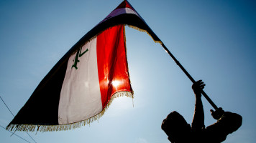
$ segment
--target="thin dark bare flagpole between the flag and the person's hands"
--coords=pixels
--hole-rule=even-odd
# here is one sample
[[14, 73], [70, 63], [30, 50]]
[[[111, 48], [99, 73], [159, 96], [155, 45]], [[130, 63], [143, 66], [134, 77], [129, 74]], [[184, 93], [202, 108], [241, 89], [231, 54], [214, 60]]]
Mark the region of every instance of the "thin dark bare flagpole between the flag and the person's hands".
[[[170, 55], [170, 57], [173, 58], [173, 60], [175, 61], [176, 64], [178, 64], [178, 66], [180, 66], [180, 69], [187, 75], [188, 79], [191, 79], [191, 82], [195, 83], [196, 81], [193, 79], [193, 77], [191, 77], [190, 74], [188, 74], [188, 71], [186, 71], [186, 69], [180, 64], [180, 62], [175, 58], [175, 56], [173, 56], [173, 54], [170, 53], [170, 51], [168, 50], [168, 48], [165, 46], [165, 44], [161, 44], [163, 46], [163, 49], [165, 49], [165, 51]], [[206, 94], [206, 92], [204, 92], [204, 90], [202, 90], [201, 92], [204, 97], [206, 98], [206, 100], [211, 104], [212, 107], [214, 107], [214, 109], [218, 109], [218, 107], [216, 106], [216, 104], [214, 104], [214, 102], [212, 102], [212, 100], [208, 97], [208, 95]]]

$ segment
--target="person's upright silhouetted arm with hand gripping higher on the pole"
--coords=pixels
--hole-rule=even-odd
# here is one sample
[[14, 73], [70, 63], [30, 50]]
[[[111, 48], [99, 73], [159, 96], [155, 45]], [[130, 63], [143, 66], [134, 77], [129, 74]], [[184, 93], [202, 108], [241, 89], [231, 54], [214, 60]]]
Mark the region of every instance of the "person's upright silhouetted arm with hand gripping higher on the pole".
[[192, 131], [198, 132], [204, 127], [204, 108], [201, 100], [201, 91], [204, 89], [204, 82], [202, 80], [197, 81], [192, 85], [193, 92], [196, 97], [195, 113], [192, 121]]

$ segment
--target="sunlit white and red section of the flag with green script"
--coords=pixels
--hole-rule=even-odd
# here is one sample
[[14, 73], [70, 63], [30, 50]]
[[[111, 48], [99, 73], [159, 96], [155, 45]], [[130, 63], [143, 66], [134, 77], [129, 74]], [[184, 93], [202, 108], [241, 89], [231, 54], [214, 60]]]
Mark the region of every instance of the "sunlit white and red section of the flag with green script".
[[106, 29], [68, 59], [60, 91], [58, 124], [99, 114], [112, 96], [132, 96], [124, 46], [124, 26]]

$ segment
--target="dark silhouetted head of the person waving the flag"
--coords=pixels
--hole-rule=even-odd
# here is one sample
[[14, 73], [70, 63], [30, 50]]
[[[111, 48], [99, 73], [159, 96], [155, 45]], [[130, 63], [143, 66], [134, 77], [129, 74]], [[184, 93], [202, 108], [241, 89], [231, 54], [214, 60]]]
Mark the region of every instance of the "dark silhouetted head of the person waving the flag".
[[191, 126], [178, 112], [168, 114], [161, 128], [168, 135], [170, 142], [186, 142], [186, 139], [190, 138]]

